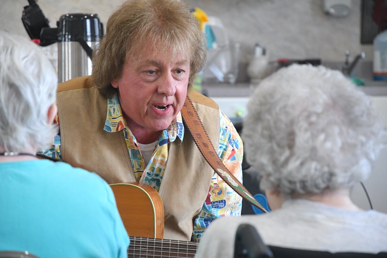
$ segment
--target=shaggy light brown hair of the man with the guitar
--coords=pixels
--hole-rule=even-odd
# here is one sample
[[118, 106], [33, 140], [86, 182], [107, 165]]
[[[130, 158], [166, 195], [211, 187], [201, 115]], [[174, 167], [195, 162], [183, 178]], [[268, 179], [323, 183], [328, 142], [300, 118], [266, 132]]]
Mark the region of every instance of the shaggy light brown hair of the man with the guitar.
[[128, 57], [147, 55], [145, 46], [190, 60], [188, 90], [207, 57], [204, 35], [188, 6], [178, 0], [127, 0], [110, 15], [106, 34], [93, 53], [92, 80], [104, 97], [116, 89]]

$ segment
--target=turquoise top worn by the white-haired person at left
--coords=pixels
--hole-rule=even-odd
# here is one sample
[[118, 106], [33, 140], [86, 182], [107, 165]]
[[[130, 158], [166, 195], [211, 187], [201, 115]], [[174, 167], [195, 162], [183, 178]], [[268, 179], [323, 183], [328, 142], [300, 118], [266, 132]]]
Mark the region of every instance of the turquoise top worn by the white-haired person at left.
[[97, 174], [48, 160], [0, 163], [0, 250], [124, 258], [128, 244], [113, 191]]

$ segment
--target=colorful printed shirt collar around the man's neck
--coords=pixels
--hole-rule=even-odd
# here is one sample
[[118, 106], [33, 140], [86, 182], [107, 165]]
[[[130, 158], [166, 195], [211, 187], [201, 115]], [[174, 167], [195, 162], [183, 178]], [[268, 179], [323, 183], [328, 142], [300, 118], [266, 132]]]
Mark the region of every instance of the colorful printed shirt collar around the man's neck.
[[[118, 99], [118, 94], [116, 93], [112, 97], [108, 98], [108, 111], [103, 130], [111, 133], [121, 131], [124, 128], [126, 128], [132, 138], [134, 138], [134, 135], [132, 132], [130, 132], [129, 127], [126, 124], [125, 116], [123, 115], [121, 109], [120, 100]], [[159, 138], [159, 145], [161, 144], [161, 139], [169, 139], [168, 142], [173, 142], [176, 140], [176, 138], [178, 138], [182, 142], [183, 137], [183, 118], [182, 114], [179, 112], [176, 118], [171, 122], [171, 125], [161, 133], [161, 137]]]

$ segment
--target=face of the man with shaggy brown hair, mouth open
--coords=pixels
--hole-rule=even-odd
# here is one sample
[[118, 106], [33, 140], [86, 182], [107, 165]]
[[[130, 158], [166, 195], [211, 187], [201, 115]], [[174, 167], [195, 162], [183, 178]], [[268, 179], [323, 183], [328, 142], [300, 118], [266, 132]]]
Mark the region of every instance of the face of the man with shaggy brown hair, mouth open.
[[122, 76], [111, 82], [130, 130], [142, 134], [168, 128], [187, 96], [190, 60], [165, 51], [126, 60]]

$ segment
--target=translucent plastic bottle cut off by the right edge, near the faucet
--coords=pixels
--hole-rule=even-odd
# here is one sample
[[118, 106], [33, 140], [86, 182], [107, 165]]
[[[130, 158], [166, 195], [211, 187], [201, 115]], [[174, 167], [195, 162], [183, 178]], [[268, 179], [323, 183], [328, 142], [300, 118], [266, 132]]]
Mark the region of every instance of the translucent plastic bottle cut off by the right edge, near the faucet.
[[373, 79], [387, 80], [387, 30], [373, 39]]

